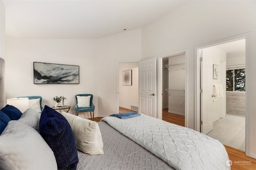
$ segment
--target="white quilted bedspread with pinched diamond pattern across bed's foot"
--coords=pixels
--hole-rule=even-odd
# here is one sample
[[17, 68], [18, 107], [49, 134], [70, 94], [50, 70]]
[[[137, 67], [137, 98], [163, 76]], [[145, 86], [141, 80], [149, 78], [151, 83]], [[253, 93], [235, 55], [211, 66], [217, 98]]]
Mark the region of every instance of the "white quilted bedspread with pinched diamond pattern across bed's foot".
[[222, 143], [193, 129], [146, 115], [130, 119], [104, 117], [102, 121], [176, 170], [230, 170]]

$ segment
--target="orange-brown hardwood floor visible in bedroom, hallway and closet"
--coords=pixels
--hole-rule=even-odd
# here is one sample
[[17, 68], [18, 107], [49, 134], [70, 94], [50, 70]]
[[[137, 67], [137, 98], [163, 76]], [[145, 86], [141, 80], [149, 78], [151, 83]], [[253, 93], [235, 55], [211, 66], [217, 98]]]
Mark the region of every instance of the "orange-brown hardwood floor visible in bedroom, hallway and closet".
[[[120, 107], [119, 113], [124, 113], [126, 111], [133, 111], [130, 109], [125, 109], [123, 107]], [[166, 109], [163, 109], [162, 111], [162, 119], [164, 121], [168, 121], [170, 123], [174, 123], [177, 125], [184, 126], [185, 125], [185, 117], [177, 114], [173, 114], [170, 116], [168, 113], [166, 113]], [[94, 117], [94, 121], [100, 121], [102, 117]], [[232, 161], [231, 170], [256, 170], [256, 159], [251, 158], [249, 156], [245, 155], [245, 152], [242, 150], [238, 150], [229, 146], [224, 145], [228, 152], [229, 159]]]

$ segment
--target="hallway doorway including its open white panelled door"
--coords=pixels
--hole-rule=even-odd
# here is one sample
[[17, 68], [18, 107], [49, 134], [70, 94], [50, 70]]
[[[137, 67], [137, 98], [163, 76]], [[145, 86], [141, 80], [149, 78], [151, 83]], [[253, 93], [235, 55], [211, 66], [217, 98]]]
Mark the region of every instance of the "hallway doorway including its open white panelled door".
[[[125, 69], [121, 66], [122, 64], [136, 63], [135, 67]], [[122, 67], [122, 68], [121, 68]], [[127, 70], [130, 69], [130, 70]], [[132, 72], [132, 70], [138, 70], [137, 72]], [[130, 71], [130, 84], [129, 87], [123, 84], [123, 72]], [[156, 58], [148, 59], [144, 61], [128, 61], [128, 62], [118, 62], [117, 63], [117, 113], [119, 112], [119, 101], [120, 94], [125, 92], [127, 96], [131, 96], [130, 102], [124, 108], [130, 108], [134, 111], [139, 111], [142, 114], [149, 115], [152, 117], [157, 117], [157, 104], [156, 104]], [[140, 80], [140, 81], [139, 81]], [[134, 83], [132, 83], [134, 82]], [[125, 90], [122, 90], [125, 88]], [[123, 101], [127, 101], [127, 96], [123, 95], [125, 99]], [[122, 99], [121, 99], [122, 101]], [[132, 104], [131, 104], [132, 103]], [[131, 105], [130, 105], [131, 104]], [[134, 104], [134, 105], [133, 105]], [[137, 105], [137, 106], [136, 106]], [[136, 109], [134, 109], [134, 107]]]

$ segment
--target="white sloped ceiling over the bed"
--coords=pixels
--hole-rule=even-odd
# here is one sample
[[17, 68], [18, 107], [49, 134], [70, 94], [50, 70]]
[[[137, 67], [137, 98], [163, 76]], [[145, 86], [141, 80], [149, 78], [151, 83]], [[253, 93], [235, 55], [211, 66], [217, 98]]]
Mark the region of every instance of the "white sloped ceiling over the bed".
[[[142, 28], [183, 0], [2, 0], [6, 35], [94, 39]], [[124, 30], [126, 29], [126, 30]]]

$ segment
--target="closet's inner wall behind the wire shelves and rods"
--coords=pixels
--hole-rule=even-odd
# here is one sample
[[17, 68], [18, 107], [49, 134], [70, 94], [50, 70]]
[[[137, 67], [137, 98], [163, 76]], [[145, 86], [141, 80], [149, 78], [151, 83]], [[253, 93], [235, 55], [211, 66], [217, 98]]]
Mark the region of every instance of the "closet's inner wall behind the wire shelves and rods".
[[[174, 57], [169, 57], [169, 64], [185, 63], [185, 54]], [[185, 90], [186, 70], [185, 65], [169, 66], [168, 71], [168, 112], [185, 115], [185, 92], [174, 90]]]

